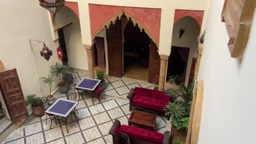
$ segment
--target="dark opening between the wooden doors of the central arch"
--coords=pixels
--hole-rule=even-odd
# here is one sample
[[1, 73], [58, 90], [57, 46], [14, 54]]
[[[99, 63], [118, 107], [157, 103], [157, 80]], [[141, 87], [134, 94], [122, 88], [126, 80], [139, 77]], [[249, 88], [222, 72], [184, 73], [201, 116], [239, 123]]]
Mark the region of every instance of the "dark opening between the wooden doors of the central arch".
[[[127, 19], [123, 16], [123, 19]], [[129, 21], [124, 28], [124, 77], [148, 81], [150, 38]]]

